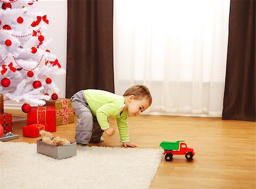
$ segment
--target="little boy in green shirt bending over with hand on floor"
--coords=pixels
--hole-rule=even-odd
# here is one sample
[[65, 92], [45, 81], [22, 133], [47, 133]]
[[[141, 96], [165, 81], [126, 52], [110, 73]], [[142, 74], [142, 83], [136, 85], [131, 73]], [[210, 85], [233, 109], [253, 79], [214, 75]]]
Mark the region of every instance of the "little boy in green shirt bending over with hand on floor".
[[102, 134], [113, 136], [115, 129], [109, 125], [109, 117], [117, 118], [117, 126], [123, 146], [137, 147], [129, 140], [127, 117], [137, 116], [152, 103], [150, 91], [146, 86], [135, 85], [119, 96], [108, 91], [87, 89], [71, 97], [77, 115], [76, 136], [78, 144], [102, 142]]

